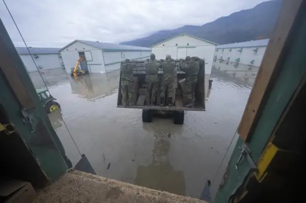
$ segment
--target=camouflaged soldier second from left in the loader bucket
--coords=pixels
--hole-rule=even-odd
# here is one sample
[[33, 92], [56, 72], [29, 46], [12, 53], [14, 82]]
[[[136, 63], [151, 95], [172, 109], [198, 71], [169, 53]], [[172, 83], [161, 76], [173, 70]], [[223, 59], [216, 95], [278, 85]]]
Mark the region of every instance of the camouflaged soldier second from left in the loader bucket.
[[155, 55], [151, 54], [150, 61], [145, 62], [146, 67], [146, 78], [145, 82], [147, 83], [147, 95], [146, 95], [146, 105], [154, 105], [156, 93], [159, 86], [158, 79], [158, 69], [159, 62], [155, 60]]

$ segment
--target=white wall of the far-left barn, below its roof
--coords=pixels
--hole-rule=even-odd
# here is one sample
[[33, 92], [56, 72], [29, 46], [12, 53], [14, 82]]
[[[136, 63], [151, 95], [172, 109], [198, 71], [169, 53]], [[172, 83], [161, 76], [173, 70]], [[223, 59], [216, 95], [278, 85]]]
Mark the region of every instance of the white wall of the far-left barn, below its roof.
[[[33, 59], [40, 70], [62, 68], [63, 60], [60, 54], [35, 54], [38, 58], [33, 56]], [[26, 66], [28, 72], [37, 71], [35, 63], [33, 62], [31, 55], [20, 55], [20, 58]]]

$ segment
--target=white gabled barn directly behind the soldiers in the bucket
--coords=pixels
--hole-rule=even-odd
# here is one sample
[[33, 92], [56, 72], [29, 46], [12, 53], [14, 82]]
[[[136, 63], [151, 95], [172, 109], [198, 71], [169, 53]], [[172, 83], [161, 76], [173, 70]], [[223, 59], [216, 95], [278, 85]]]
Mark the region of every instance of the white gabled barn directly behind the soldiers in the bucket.
[[205, 59], [205, 74], [212, 71], [214, 50], [217, 44], [190, 34], [181, 33], [152, 46], [156, 59], [165, 59], [170, 54], [173, 59], [197, 56]]

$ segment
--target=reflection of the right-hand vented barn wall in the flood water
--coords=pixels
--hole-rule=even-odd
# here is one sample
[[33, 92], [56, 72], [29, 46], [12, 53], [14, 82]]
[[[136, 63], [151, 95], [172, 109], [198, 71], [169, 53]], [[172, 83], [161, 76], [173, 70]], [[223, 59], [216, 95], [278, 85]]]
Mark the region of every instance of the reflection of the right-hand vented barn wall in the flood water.
[[213, 70], [217, 70], [230, 78], [239, 79], [240, 81], [245, 82], [245, 84], [253, 85], [259, 67], [227, 62], [224, 60], [216, 60], [213, 63]]

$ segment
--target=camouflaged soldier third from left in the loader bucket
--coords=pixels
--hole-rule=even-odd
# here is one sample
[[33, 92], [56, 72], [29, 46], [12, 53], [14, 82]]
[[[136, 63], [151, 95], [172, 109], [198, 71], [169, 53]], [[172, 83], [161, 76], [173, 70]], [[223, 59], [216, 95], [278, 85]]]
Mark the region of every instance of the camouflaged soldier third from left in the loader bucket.
[[[175, 62], [171, 59], [171, 55], [166, 55], [166, 60], [161, 63], [163, 69], [163, 77], [161, 83], [161, 106], [165, 104], [166, 94], [168, 95], [167, 103], [172, 106], [173, 96], [173, 71], [175, 69]], [[175, 93], [174, 93], [175, 94]]]

